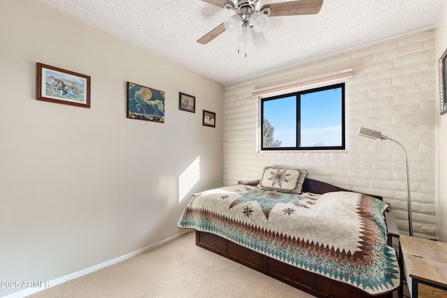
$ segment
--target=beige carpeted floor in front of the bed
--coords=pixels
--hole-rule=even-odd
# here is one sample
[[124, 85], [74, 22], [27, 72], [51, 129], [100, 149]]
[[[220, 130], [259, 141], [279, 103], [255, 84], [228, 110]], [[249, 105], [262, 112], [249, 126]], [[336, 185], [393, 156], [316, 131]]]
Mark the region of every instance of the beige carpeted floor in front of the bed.
[[191, 232], [147, 253], [28, 297], [313, 296], [196, 246], [195, 233]]

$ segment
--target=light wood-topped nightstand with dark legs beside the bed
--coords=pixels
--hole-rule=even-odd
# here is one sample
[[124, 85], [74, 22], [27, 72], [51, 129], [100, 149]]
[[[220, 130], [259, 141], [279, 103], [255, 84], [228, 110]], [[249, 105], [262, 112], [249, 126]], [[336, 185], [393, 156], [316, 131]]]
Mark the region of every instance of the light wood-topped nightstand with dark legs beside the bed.
[[400, 235], [400, 258], [411, 298], [447, 297], [447, 243]]

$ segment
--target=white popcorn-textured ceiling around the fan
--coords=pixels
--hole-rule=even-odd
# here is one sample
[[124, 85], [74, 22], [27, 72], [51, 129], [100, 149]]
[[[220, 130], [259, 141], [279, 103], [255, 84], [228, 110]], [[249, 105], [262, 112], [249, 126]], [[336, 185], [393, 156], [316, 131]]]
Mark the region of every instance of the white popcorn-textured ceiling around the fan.
[[226, 31], [207, 45], [196, 42], [234, 14], [200, 0], [38, 1], [222, 84], [434, 27], [447, 3], [324, 0], [316, 15], [269, 17], [268, 49], [242, 44], [237, 53], [237, 33]]

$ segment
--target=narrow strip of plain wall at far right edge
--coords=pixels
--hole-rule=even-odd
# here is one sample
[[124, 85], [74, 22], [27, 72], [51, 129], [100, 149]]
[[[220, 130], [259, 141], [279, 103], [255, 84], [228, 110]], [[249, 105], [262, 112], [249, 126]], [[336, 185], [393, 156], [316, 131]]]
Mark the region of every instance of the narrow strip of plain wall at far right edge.
[[[447, 7], [444, 8], [437, 24], [436, 61], [447, 49]], [[439, 88], [438, 71], [435, 79]], [[439, 114], [439, 98], [436, 100], [437, 120], [437, 234], [441, 241], [447, 242], [447, 114]]]

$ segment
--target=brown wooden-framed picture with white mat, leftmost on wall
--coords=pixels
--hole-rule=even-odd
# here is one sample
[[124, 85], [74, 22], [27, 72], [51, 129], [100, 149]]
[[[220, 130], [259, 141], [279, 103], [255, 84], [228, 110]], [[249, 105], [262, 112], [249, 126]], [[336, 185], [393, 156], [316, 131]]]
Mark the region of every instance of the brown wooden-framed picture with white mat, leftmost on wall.
[[90, 107], [89, 75], [37, 63], [36, 99]]

